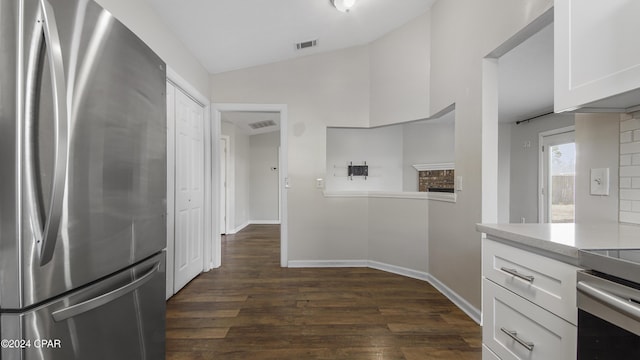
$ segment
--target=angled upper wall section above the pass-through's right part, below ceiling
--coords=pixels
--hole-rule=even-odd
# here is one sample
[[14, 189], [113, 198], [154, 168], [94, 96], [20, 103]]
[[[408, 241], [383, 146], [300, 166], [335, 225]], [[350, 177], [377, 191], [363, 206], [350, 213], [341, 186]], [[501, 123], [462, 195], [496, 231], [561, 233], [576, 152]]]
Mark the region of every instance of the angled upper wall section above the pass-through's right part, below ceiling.
[[429, 116], [430, 13], [369, 46], [371, 126]]

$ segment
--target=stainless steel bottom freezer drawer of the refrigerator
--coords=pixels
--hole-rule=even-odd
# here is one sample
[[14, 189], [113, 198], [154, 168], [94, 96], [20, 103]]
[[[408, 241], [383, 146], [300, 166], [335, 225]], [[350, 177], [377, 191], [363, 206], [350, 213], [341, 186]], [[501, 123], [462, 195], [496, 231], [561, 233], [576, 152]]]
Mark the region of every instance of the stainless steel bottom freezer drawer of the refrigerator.
[[2, 313], [2, 360], [165, 358], [165, 258], [24, 313]]

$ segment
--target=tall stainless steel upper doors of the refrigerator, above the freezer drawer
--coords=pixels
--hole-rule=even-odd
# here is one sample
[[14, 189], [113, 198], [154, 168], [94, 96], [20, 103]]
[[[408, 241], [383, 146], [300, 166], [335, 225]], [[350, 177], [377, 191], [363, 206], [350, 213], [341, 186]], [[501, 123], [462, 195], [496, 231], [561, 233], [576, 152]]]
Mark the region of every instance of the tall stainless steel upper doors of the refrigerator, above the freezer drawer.
[[[93, 1], [22, 2], [19, 153], [2, 164], [22, 180], [11, 202], [21, 218], [0, 239], [2, 309], [38, 304], [166, 244], [164, 63]], [[2, 146], [15, 138], [0, 133]]]

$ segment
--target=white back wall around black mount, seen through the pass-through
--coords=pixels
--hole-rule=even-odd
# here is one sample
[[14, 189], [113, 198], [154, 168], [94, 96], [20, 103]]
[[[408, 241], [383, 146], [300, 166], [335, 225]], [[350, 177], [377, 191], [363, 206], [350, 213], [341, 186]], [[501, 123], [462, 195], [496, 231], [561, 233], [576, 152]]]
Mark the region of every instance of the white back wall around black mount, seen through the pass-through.
[[[369, 166], [365, 179], [347, 176], [347, 166]], [[329, 191], [402, 191], [402, 127], [327, 129]]]

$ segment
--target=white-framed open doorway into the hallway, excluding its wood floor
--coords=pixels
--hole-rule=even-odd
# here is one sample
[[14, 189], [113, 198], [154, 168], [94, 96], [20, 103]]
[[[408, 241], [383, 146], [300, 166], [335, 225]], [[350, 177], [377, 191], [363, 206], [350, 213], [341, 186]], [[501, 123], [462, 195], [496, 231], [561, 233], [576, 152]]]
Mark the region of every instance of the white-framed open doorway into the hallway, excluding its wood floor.
[[[216, 170], [214, 266], [222, 264], [222, 235], [250, 224], [279, 224], [280, 263], [287, 257], [287, 107], [213, 104]], [[284, 154], [284, 155], [283, 155]]]

